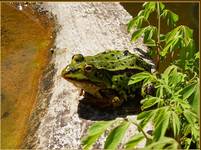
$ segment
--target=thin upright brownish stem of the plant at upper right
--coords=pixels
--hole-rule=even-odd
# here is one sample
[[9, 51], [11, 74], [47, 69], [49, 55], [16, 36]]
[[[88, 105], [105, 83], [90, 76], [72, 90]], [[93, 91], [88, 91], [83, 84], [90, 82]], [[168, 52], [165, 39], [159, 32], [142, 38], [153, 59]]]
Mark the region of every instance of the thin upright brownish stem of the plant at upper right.
[[160, 62], [160, 26], [161, 26], [161, 20], [160, 20], [160, 3], [157, 2], [157, 18], [158, 18], [158, 32], [157, 32], [157, 58], [156, 58], [156, 69], [159, 68], [159, 62]]

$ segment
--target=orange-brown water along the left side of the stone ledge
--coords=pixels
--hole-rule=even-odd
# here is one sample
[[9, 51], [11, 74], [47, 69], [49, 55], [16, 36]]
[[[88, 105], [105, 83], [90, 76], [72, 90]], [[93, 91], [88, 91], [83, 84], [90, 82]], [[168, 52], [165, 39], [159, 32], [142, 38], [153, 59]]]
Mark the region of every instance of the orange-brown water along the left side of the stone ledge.
[[1, 148], [19, 148], [50, 58], [53, 21], [30, 6], [1, 4]]

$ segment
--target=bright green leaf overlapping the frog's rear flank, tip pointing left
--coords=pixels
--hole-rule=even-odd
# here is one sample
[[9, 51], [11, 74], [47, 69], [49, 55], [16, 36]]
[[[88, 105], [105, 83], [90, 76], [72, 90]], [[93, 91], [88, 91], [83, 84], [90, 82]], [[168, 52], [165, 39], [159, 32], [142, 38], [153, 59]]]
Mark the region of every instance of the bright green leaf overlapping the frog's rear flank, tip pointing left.
[[151, 74], [149, 72], [141, 72], [141, 73], [137, 73], [133, 76], [130, 77], [130, 80], [128, 82], [128, 85], [132, 85], [132, 84], [135, 84], [137, 82], [140, 82], [144, 79], [147, 79], [151, 76]]

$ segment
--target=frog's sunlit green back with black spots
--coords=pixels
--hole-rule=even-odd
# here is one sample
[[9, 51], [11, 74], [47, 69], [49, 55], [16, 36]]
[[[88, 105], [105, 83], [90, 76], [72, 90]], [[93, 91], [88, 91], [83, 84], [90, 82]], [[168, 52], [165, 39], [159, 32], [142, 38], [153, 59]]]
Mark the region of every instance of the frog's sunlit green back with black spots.
[[108, 71], [147, 70], [150, 71], [150, 64], [142, 58], [129, 51], [111, 50], [99, 53], [95, 56], [87, 56], [87, 62], [93, 64], [97, 69]]

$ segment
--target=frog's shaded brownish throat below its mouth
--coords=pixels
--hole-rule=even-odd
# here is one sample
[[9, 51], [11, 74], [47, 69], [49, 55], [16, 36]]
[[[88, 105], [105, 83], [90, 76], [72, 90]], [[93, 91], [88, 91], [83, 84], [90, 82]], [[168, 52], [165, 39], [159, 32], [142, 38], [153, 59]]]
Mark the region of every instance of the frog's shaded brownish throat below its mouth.
[[95, 83], [89, 80], [74, 80], [74, 79], [66, 79], [69, 82], [73, 83], [76, 87], [83, 89], [85, 92], [93, 95], [94, 97], [102, 99], [102, 95], [100, 94], [101, 86], [97, 86]]

